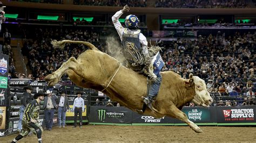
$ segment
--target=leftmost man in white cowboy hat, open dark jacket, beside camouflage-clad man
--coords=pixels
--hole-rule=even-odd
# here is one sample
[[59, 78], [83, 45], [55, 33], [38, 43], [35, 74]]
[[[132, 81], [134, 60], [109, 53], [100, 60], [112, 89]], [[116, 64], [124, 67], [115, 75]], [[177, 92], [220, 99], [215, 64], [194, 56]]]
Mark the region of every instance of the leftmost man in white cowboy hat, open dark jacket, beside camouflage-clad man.
[[46, 91], [47, 96], [44, 98], [44, 118], [45, 118], [45, 126], [46, 130], [51, 131], [52, 129], [52, 119], [55, 110], [58, 108], [57, 106], [57, 98], [55, 96], [52, 96], [52, 91], [47, 90]]

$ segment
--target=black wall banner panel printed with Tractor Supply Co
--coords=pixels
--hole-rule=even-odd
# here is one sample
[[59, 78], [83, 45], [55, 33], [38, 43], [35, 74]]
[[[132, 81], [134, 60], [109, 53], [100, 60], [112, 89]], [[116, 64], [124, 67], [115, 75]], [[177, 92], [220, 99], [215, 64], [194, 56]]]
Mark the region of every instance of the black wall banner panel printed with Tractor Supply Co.
[[220, 106], [217, 108], [218, 123], [256, 123], [256, 106]]

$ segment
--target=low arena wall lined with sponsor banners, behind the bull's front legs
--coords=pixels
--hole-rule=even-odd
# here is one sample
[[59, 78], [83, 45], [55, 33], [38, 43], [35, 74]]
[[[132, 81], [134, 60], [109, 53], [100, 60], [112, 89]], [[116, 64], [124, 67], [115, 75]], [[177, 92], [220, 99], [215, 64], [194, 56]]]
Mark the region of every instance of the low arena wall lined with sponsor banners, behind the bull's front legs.
[[[184, 107], [188, 119], [197, 125], [256, 125], [255, 106]], [[170, 117], [160, 119], [139, 115], [124, 107], [91, 106], [89, 124], [93, 125], [187, 125]]]

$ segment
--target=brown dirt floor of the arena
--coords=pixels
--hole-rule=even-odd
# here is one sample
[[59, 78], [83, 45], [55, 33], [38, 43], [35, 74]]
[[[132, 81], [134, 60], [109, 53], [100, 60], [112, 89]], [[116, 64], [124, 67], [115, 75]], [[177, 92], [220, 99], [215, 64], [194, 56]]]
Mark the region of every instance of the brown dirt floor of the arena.
[[[188, 126], [84, 125], [82, 128], [53, 127], [44, 131], [43, 142], [256, 142], [256, 127], [201, 126], [197, 134]], [[0, 138], [10, 142], [17, 134]], [[37, 142], [36, 135], [19, 142]]]

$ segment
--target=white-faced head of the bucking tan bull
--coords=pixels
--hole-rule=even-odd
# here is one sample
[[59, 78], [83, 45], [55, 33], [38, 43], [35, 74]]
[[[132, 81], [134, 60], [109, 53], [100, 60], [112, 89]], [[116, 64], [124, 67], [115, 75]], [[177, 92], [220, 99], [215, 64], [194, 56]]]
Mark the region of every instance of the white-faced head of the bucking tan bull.
[[190, 74], [190, 81], [194, 82], [196, 90], [196, 96], [192, 101], [201, 106], [210, 106], [213, 102], [213, 99], [210, 96], [210, 93], [207, 91], [205, 81], [198, 76], [193, 76], [192, 74]]

